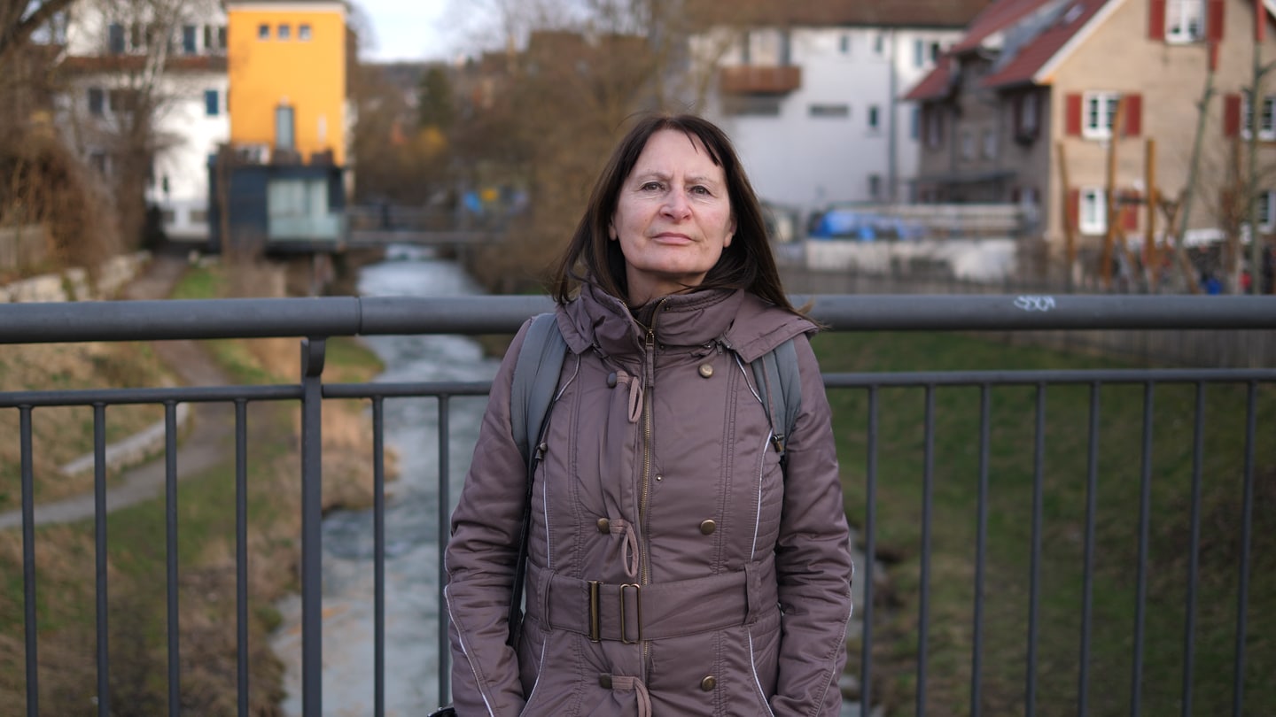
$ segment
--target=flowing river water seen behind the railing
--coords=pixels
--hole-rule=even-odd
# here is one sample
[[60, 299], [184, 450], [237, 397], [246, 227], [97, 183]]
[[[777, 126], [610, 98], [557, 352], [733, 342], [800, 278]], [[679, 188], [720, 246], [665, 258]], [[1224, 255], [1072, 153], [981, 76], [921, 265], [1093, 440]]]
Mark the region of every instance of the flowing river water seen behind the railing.
[[[453, 262], [392, 249], [365, 267], [362, 296], [464, 296], [481, 290]], [[385, 371], [375, 380], [490, 380], [499, 360], [457, 336], [366, 337]], [[485, 397], [449, 401], [449, 485], [459, 495]], [[439, 545], [438, 401], [396, 398], [384, 404], [385, 448], [398, 477], [385, 500], [385, 714], [424, 714], [438, 703]], [[323, 706], [325, 716], [373, 713], [373, 512], [339, 510], [323, 521]], [[272, 647], [286, 666], [283, 712], [301, 714], [301, 598], [278, 605], [283, 623]]]

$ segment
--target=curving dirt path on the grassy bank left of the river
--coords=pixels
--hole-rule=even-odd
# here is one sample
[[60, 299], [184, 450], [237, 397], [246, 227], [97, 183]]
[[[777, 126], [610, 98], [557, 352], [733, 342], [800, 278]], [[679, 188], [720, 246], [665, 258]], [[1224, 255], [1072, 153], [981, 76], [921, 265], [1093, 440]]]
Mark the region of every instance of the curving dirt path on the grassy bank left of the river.
[[[145, 274], [134, 279], [124, 299], [167, 299], [186, 269], [182, 256], [157, 253]], [[208, 353], [193, 341], [153, 342], [156, 355], [174, 370], [185, 385], [225, 385], [230, 379]], [[234, 408], [222, 403], [193, 404], [194, 431], [177, 449], [177, 478], [184, 480], [234, 455], [231, 440]], [[163, 455], [124, 471], [122, 481], [106, 492], [106, 509], [117, 510], [163, 495]], [[36, 506], [36, 524], [70, 523], [92, 518], [93, 494], [87, 492]], [[0, 529], [22, 526], [22, 512], [0, 513]]]

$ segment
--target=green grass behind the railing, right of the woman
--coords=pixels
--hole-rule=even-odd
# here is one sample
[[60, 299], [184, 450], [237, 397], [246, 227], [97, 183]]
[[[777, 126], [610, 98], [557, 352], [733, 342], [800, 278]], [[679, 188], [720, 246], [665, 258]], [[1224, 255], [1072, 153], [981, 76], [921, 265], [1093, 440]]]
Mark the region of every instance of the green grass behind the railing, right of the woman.
[[[967, 336], [826, 334], [815, 339], [824, 371], [1128, 367], [1097, 357], [1012, 347]], [[1091, 632], [1090, 713], [1129, 713], [1143, 466], [1143, 385], [1097, 389], [1097, 491]], [[1042, 558], [1037, 647], [1037, 714], [1076, 714], [1079, 679], [1082, 566], [1090, 461], [1090, 385], [1051, 385], [1045, 402]], [[868, 392], [831, 390], [847, 514], [863, 526], [866, 501]], [[928, 714], [970, 713], [974, 646], [976, 506], [980, 485], [979, 387], [933, 389], [931, 556]], [[1036, 387], [994, 387], [988, 402], [988, 523], [984, 575], [983, 709], [1022, 713], [1032, 542]], [[1247, 389], [1210, 385], [1205, 431], [1194, 707], [1230, 711]], [[874, 690], [891, 714], [912, 713], [916, 690], [919, 565], [924, 496], [924, 388], [878, 392], [877, 540], [898, 563], [874, 621]], [[1276, 401], [1257, 393], [1258, 425], [1270, 432]], [[1196, 388], [1157, 385], [1151, 415], [1150, 528], [1141, 699], [1145, 713], [1178, 713], [1192, 510]], [[1259, 432], [1259, 436], [1263, 435]], [[1259, 486], [1276, 475], [1272, 441], [1257, 441]], [[1247, 713], [1276, 713], [1276, 521], [1270, 487], [1254, 508], [1248, 610]], [[855, 652], [859, 648], [855, 646]], [[854, 665], [852, 665], [854, 667]], [[1226, 709], [1225, 709], [1226, 708]]]

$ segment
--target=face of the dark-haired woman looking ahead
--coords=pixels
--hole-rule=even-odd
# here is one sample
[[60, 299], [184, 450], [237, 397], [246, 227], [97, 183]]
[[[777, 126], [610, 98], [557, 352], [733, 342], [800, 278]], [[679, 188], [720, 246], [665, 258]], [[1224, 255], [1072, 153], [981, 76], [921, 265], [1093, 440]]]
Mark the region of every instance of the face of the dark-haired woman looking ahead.
[[704, 145], [671, 129], [651, 135], [610, 226], [625, 256], [629, 304], [699, 286], [734, 232], [726, 175]]

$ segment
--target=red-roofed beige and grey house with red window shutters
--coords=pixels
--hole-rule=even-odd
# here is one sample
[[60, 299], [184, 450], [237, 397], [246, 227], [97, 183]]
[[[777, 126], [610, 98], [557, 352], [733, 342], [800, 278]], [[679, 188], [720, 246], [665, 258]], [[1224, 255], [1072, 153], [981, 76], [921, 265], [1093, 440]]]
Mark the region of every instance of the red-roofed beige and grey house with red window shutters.
[[[999, 0], [907, 96], [921, 114], [920, 199], [1039, 207], [1051, 249], [1073, 255], [1155, 248], [1184, 213], [1189, 244], [1234, 236], [1248, 225], [1256, 56], [1276, 57], [1266, 0]], [[1261, 97], [1256, 162], [1268, 171], [1254, 196], [1268, 235], [1276, 93]]]

